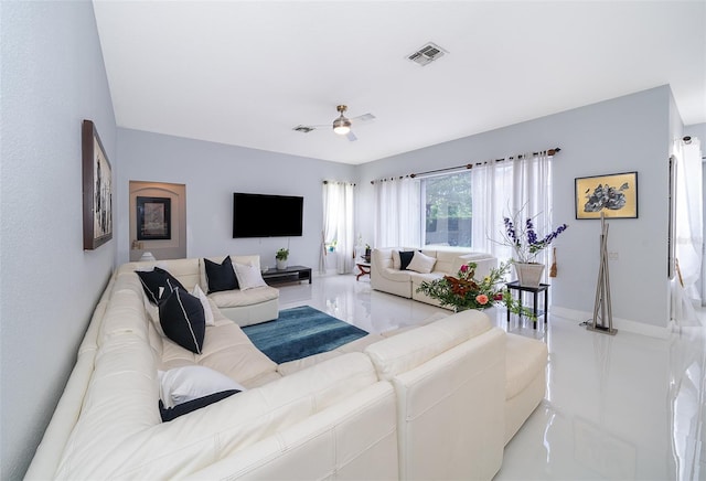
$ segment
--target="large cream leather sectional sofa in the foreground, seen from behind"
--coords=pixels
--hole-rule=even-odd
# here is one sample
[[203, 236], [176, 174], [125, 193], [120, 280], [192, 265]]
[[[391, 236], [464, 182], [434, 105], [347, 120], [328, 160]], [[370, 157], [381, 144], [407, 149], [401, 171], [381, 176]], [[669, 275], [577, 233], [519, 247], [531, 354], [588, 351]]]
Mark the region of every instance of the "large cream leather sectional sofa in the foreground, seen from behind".
[[[186, 287], [188, 265], [163, 268]], [[99, 300], [26, 479], [491, 479], [544, 395], [544, 343], [509, 343], [480, 311], [277, 365], [210, 299], [194, 353], [163, 334], [137, 267]], [[237, 387], [163, 421], [175, 373]]]

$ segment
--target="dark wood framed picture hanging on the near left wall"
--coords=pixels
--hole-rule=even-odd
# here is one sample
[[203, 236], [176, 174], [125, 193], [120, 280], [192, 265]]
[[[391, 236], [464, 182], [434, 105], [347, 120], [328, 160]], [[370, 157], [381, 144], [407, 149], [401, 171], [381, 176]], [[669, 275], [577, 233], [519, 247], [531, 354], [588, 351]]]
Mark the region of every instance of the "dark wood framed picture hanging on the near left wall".
[[82, 125], [84, 249], [93, 250], [113, 238], [113, 169], [90, 120]]

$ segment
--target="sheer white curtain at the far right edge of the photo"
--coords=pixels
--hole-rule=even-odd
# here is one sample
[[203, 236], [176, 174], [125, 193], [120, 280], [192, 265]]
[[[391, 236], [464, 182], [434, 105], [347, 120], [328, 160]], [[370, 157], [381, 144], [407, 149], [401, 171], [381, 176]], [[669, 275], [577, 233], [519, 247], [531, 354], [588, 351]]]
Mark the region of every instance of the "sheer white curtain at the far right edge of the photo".
[[703, 227], [703, 173], [700, 141], [692, 138], [688, 143], [675, 142], [675, 248], [678, 270], [676, 280], [683, 286], [682, 296], [698, 306], [702, 296], [696, 285], [702, 275]]

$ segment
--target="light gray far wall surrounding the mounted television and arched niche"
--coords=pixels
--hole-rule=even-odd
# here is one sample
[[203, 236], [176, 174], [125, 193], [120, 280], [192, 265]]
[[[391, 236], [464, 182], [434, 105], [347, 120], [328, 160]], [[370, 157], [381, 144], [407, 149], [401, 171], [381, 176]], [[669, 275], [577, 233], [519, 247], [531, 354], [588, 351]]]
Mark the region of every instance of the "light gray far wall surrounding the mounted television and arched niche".
[[[243, 147], [204, 142], [139, 130], [118, 129], [116, 231], [118, 263], [129, 257], [129, 181], [186, 185], [189, 257], [259, 254], [275, 266], [275, 253], [289, 247], [289, 265], [319, 266], [322, 228], [322, 182], [354, 182], [354, 165], [293, 157]], [[233, 193], [253, 192], [304, 197], [303, 236], [233, 238]], [[263, 212], [277, 222], [277, 213]]]

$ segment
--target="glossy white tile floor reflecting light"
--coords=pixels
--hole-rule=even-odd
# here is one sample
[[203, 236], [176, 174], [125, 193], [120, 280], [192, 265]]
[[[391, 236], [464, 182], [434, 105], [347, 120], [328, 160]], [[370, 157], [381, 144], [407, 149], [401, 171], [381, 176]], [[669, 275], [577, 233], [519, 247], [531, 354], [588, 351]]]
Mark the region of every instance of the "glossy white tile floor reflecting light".
[[[280, 309], [306, 304], [368, 332], [449, 313], [374, 291], [355, 276], [281, 288]], [[549, 349], [546, 397], [505, 447], [496, 481], [706, 480], [704, 328], [667, 339], [611, 336], [550, 314], [535, 331], [517, 319], [507, 325], [502, 308], [489, 313]]]

